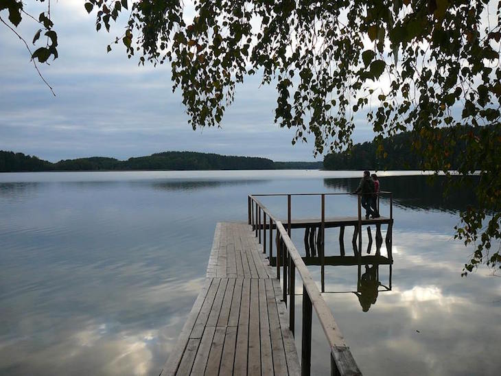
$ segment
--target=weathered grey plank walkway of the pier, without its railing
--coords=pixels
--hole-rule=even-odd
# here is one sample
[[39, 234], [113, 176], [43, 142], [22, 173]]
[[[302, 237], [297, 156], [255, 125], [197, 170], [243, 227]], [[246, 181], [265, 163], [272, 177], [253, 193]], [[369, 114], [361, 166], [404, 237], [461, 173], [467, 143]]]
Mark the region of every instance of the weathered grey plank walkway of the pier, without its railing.
[[161, 376], [299, 375], [281, 296], [252, 227], [218, 223], [205, 285]]

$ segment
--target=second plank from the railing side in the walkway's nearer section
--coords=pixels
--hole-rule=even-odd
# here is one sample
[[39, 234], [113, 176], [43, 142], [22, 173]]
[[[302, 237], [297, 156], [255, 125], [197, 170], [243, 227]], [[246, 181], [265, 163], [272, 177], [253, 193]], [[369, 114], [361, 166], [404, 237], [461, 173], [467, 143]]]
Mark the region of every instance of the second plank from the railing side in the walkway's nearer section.
[[277, 301], [273, 291], [272, 281], [264, 281], [266, 289], [266, 305], [268, 307], [268, 322], [270, 325], [270, 340], [273, 358], [273, 371], [275, 375], [285, 375], [287, 373], [286, 353], [283, 349], [282, 333], [280, 329], [279, 314], [277, 311]]

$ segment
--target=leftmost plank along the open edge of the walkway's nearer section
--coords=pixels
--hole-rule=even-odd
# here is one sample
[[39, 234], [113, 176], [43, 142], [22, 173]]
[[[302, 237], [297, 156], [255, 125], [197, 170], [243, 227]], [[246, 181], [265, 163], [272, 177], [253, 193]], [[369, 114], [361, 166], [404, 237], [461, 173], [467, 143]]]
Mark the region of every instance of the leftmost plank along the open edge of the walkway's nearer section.
[[161, 375], [165, 376], [165, 375], [176, 374], [176, 370], [181, 361], [181, 358], [183, 357], [183, 353], [189, 340], [189, 334], [191, 333], [191, 329], [193, 329], [195, 325], [196, 319], [198, 318], [198, 313], [200, 311], [200, 308], [202, 307], [202, 304], [205, 301], [207, 292], [212, 282], [213, 279], [205, 280], [205, 283], [202, 287], [202, 290], [200, 291], [200, 294], [198, 294], [198, 297], [196, 298], [193, 307], [191, 307], [191, 311], [189, 312], [185, 325], [181, 330], [178, 341], [176, 342], [176, 346], [174, 346], [174, 350], [172, 351], [172, 353], [170, 353], [169, 359], [167, 360], [167, 362], [165, 362]]

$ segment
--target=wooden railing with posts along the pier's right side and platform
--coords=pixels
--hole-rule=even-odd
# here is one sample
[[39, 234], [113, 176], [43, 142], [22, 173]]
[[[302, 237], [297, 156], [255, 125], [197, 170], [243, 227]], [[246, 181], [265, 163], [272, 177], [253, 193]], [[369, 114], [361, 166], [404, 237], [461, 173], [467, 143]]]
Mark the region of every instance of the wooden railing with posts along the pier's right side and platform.
[[[325, 337], [329, 342], [331, 353], [331, 375], [362, 375], [358, 366], [351, 355], [349, 347], [345, 343], [344, 338], [334, 320], [334, 316], [323, 300], [321, 292], [318, 290], [314, 279], [308, 271], [301, 255], [290, 239], [292, 228], [291, 214], [291, 196], [321, 196], [321, 222], [320, 236], [321, 246], [319, 256], [323, 266], [324, 246], [325, 246], [325, 196], [340, 196], [350, 193], [296, 193], [296, 194], [269, 194], [269, 195], [249, 195], [248, 196], [248, 224], [253, 225], [256, 237], [259, 243], [263, 244], [263, 252], [266, 252], [266, 244], [269, 242], [269, 259], [273, 257], [273, 228], [277, 231], [275, 237], [275, 246], [277, 249], [276, 268], [277, 279], [283, 279], [283, 301], [288, 305], [289, 309], [289, 328], [294, 334], [295, 332], [295, 279], [296, 271], [303, 282], [303, 320], [302, 320], [302, 346], [301, 346], [301, 375], [310, 375], [311, 355], [312, 355], [312, 308], [315, 309], [316, 315], [325, 333]], [[379, 210], [379, 196], [389, 195], [390, 197], [390, 219], [393, 220], [393, 195], [391, 192], [377, 193], [377, 207]], [[282, 222], [275, 218], [272, 213], [262, 204], [257, 196], [287, 196], [287, 229]], [[261, 222], [262, 213], [262, 222]], [[358, 244], [359, 250], [362, 249], [362, 211], [361, 211], [361, 195], [358, 194]], [[268, 223], [267, 219], [268, 218]], [[267, 241], [268, 231], [268, 241]], [[262, 233], [262, 237], [261, 237]], [[282, 267], [281, 267], [282, 266]], [[283, 270], [282, 276], [280, 270]], [[324, 269], [321, 269], [322, 281], [324, 277]], [[289, 296], [289, 298], [287, 298]]]

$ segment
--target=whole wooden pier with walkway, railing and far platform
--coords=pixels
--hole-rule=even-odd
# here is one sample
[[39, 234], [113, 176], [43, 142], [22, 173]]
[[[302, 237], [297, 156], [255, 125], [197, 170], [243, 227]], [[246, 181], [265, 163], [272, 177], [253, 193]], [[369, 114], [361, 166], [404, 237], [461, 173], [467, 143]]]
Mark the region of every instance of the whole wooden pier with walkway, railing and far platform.
[[[326, 218], [325, 196], [340, 194], [344, 193], [250, 195], [248, 223], [218, 223], [205, 285], [187, 316], [161, 376], [310, 375], [313, 309], [330, 347], [330, 360], [326, 362], [331, 366], [331, 375], [362, 375], [321, 295], [321, 291], [325, 292], [324, 268], [329, 264], [358, 265], [360, 285], [362, 263], [366, 268], [368, 264], [373, 265], [369, 270], [375, 277], [378, 266], [388, 264], [389, 287], [383, 287], [391, 290], [393, 196], [391, 192], [377, 193], [378, 209], [379, 195], [390, 196], [387, 217], [362, 218], [359, 195], [358, 217]], [[257, 196], [287, 196], [288, 219], [284, 222], [287, 229]], [[320, 196], [320, 218], [293, 219], [292, 196]], [[371, 224], [376, 226], [376, 253], [362, 257], [362, 226]], [[388, 257], [380, 255], [382, 225], [387, 226]], [[353, 256], [345, 255], [342, 238], [346, 226], [354, 227]], [[325, 256], [327, 227], [340, 227], [339, 256]], [[290, 239], [292, 228], [305, 229], [305, 257], [301, 257]], [[367, 235], [367, 252], [370, 252], [372, 235], [369, 228]], [[321, 266], [321, 291], [307, 265]], [[294, 344], [296, 274], [303, 285], [301, 361]]]

